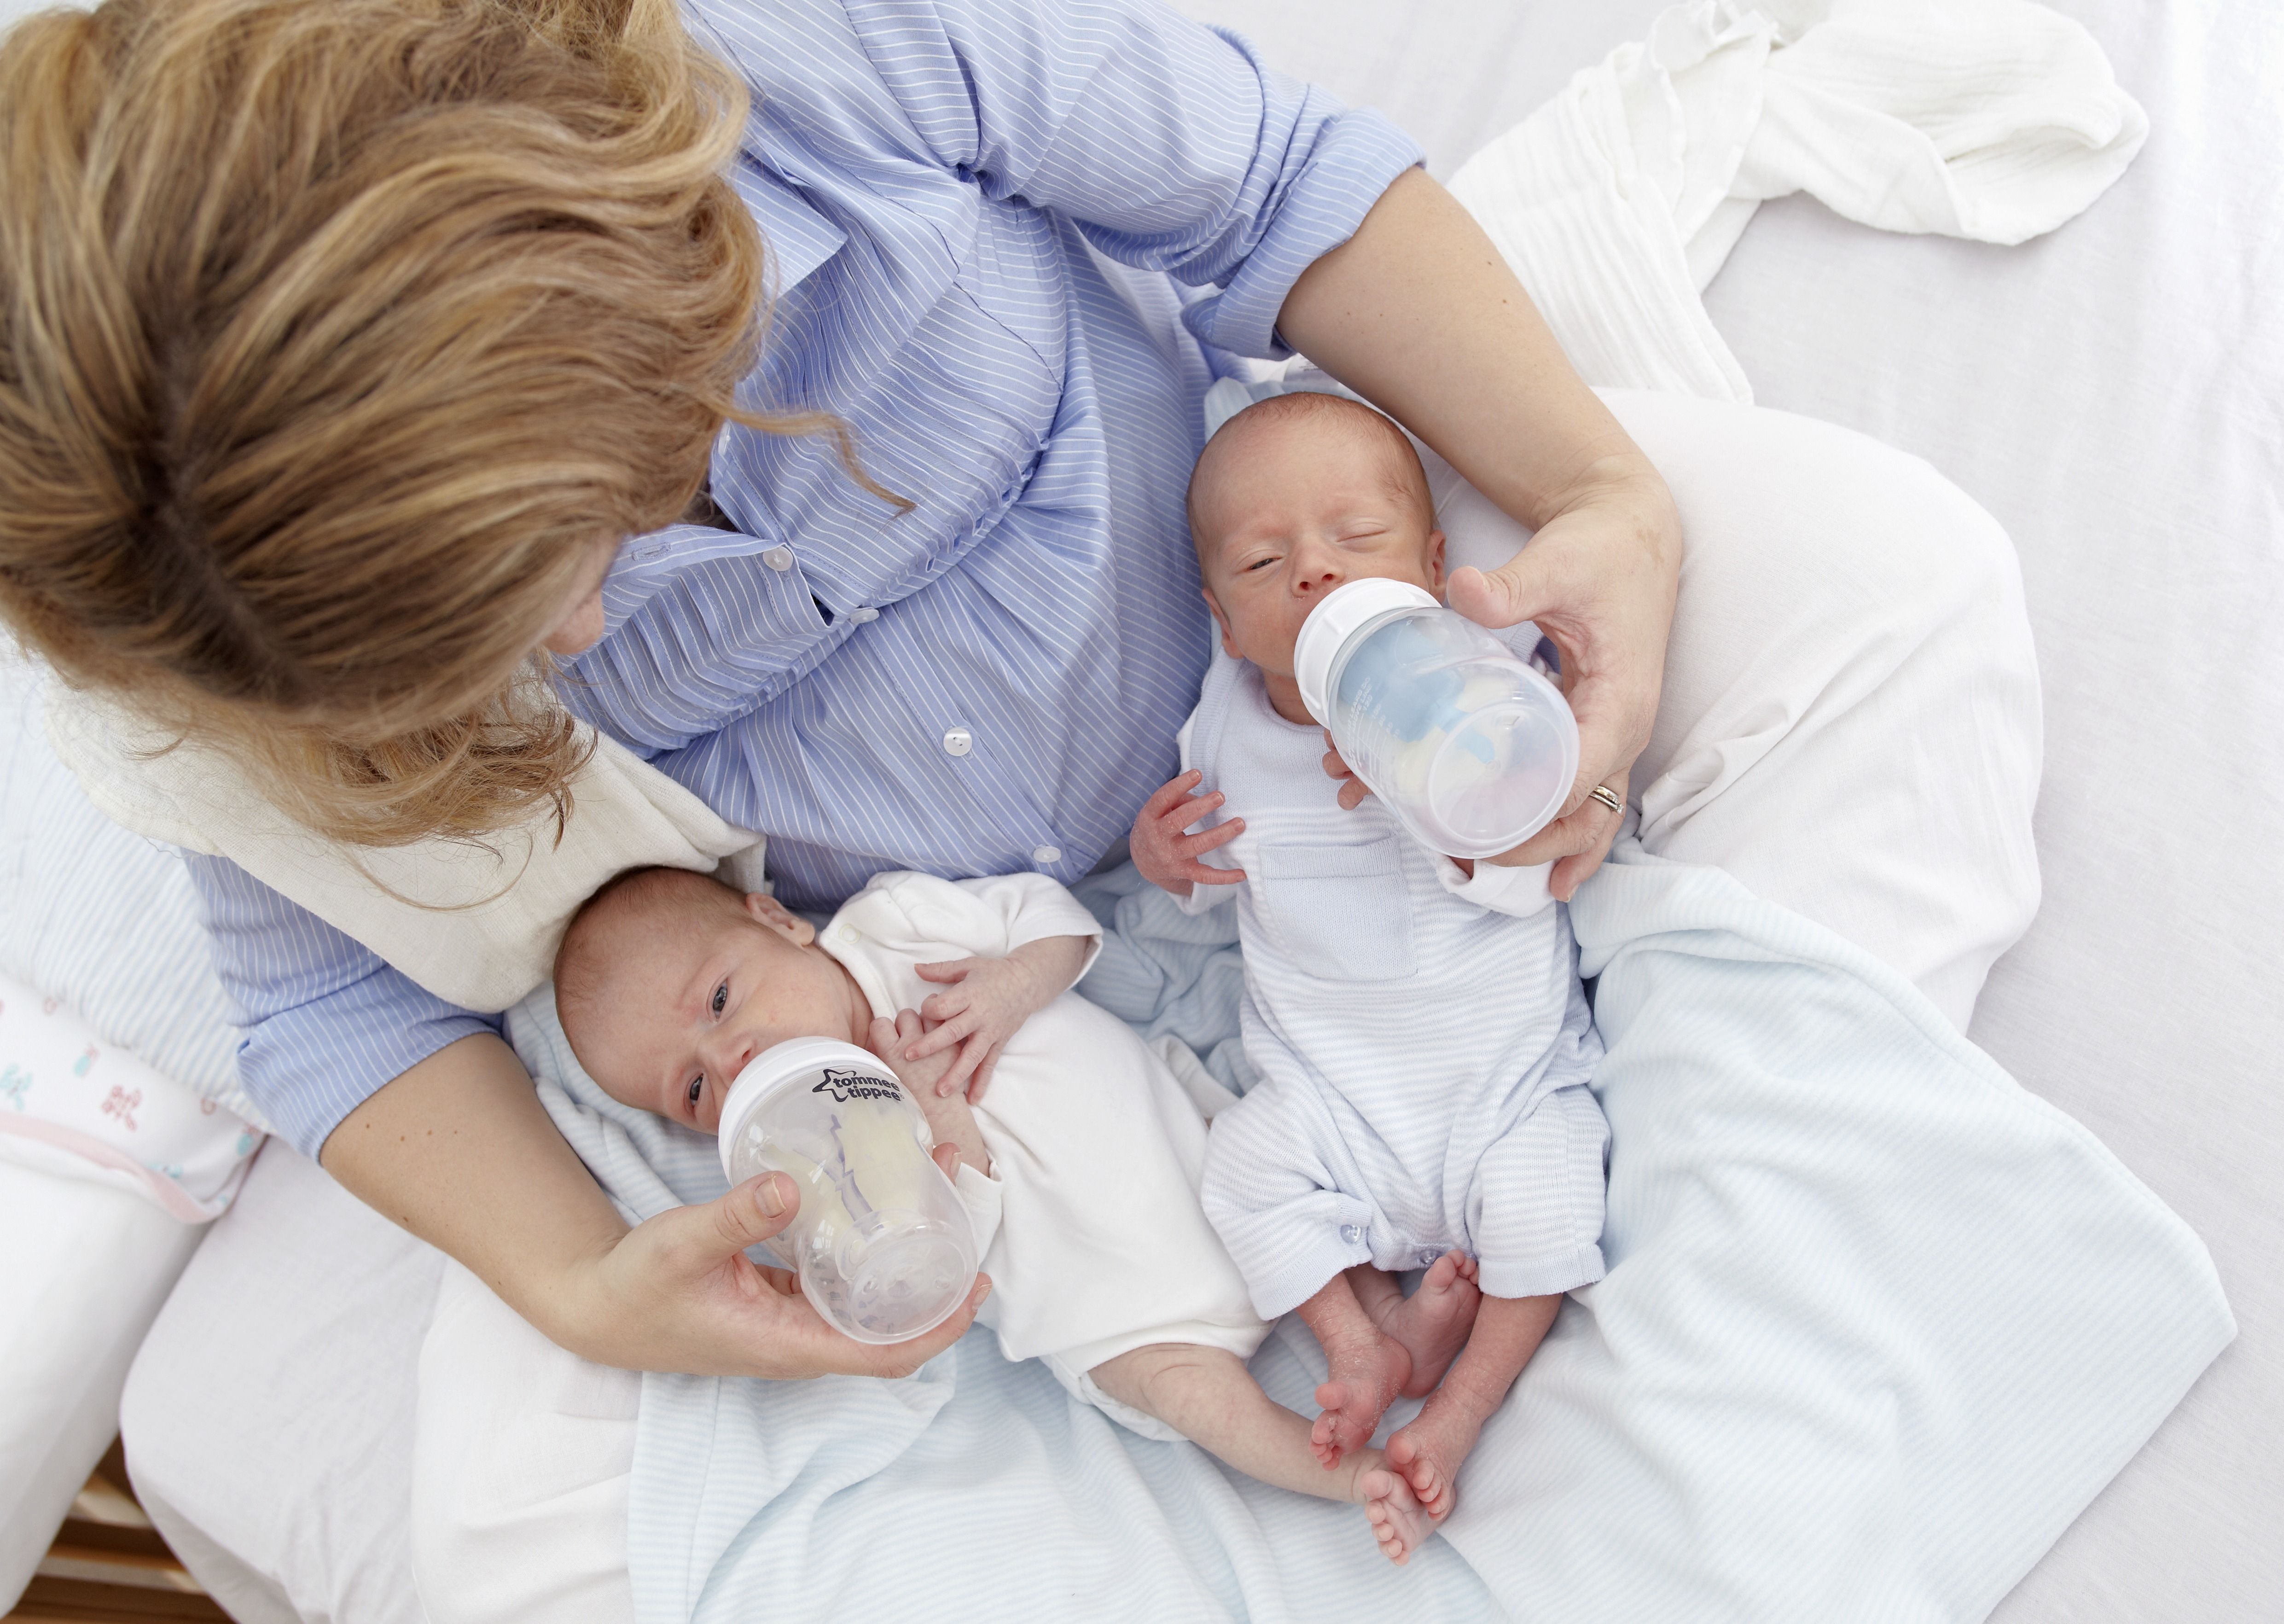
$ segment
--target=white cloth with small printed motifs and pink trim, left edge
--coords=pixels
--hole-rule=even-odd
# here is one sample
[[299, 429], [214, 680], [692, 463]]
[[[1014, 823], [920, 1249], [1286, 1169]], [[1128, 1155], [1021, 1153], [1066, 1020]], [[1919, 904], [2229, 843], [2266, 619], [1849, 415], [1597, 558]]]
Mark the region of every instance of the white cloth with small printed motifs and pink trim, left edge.
[[0, 975], [0, 1160], [110, 1183], [203, 1224], [231, 1204], [260, 1142], [59, 1000]]

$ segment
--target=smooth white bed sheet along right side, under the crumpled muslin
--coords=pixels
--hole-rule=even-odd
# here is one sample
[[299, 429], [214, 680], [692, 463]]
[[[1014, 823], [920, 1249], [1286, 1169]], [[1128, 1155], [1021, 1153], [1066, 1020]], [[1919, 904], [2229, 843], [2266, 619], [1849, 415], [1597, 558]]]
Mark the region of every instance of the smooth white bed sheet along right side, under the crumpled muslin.
[[[1450, 176], [1663, 0], [1179, 0]], [[1756, 400], [1932, 461], [2014, 537], [2046, 902], [1971, 1035], [2206, 1240], [2241, 1336], [1998, 1608], [2284, 1615], [2284, 9], [2060, 0], [2149, 146], [2051, 238], [1763, 206], [1706, 292]], [[2133, 1304], [2120, 1304], [2131, 1313]]]

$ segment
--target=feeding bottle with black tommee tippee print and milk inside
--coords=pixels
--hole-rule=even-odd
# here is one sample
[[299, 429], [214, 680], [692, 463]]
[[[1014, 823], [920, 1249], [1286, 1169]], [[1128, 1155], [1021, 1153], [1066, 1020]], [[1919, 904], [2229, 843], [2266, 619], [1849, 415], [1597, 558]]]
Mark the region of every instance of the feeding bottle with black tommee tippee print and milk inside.
[[930, 1144], [895, 1074], [831, 1037], [763, 1051], [722, 1101], [722, 1172], [793, 1174], [802, 1208], [767, 1247], [861, 1343], [932, 1332], [975, 1284], [975, 1229]]

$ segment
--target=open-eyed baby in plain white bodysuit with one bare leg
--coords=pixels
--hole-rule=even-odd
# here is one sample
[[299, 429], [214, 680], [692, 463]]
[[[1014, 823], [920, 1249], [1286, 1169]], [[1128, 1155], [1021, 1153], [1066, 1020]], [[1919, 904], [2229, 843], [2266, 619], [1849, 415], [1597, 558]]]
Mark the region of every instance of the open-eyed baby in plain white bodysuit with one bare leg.
[[1245, 1368], [1268, 1325], [1197, 1204], [1204, 1117], [1160, 1051], [1069, 991], [1099, 939], [1044, 875], [877, 875], [820, 932], [774, 898], [644, 868], [573, 918], [555, 1005], [612, 1099], [699, 1133], [774, 1044], [870, 1048], [978, 1220], [980, 1318], [1010, 1359], [1144, 1437], [1361, 1503], [1402, 1562], [1432, 1533], [1409, 1482], [1377, 1450], [1327, 1476], [1309, 1421]]

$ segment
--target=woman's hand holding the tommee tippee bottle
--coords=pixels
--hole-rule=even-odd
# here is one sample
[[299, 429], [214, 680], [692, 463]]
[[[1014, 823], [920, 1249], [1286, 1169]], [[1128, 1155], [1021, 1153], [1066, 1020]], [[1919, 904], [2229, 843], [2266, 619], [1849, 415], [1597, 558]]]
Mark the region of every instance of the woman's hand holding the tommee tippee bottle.
[[[927, 1336], [886, 1348], [852, 1341], [818, 1318], [793, 1275], [745, 1256], [797, 1211], [793, 1179], [772, 1172], [703, 1206], [635, 1224], [573, 1277], [566, 1307], [592, 1327], [578, 1352], [630, 1370], [685, 1375], [895, 1377], [959, 1341], [991, 1295], [991, 1279], [980, 1275], [966, 1307]], [[628, 1329], [640, 1334], [614, 1336]]]

